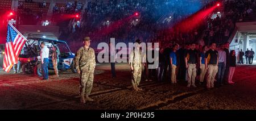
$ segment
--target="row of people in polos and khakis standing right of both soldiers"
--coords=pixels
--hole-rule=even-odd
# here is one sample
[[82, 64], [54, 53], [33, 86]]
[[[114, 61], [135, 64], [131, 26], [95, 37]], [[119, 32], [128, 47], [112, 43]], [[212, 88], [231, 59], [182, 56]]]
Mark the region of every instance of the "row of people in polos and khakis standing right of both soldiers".
[[[230, 54], [229, 43], [222, 44], [218, 49], [216, 43], [210, 44], [210, 47], [201, 48], [192, 43], [185, 48], [178, 48], [179, 45], [172, 45], [164, 50], [166, 53], [160, 48], [159, 58], [164, 58], [164, 61], [159, 60], [158, 80], [170, 78], [172, 84], [176, 84], [177, 79], [185, 80], [187, 87], [196, 87], [195, 80], [199, 79], [199, 84], [202, 85], [206, 76], [208, 89], [214, 87], [214, 81], [217, 81], [217, 86], [224, 85], [224, 82], [234, 84], [232, 77], [236, 67], [236, 55], [233, 56], [233, 51]], [[167, 60], [168, 51], [170, 60]]]

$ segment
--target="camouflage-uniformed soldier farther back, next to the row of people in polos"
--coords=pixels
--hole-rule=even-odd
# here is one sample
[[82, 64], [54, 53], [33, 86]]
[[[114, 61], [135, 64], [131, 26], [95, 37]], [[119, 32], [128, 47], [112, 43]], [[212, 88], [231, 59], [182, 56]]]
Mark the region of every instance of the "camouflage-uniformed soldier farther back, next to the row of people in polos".
[[132, 73], [131, 83], [136, 91], [142, 90], [138, 87], [139, 82], [141, 82], [142, 73], [142, 51], [139, 44], [141, 44], [141, 41], [138, 39], [135, 41], [135, 48], [129, 55], [129, 65]]

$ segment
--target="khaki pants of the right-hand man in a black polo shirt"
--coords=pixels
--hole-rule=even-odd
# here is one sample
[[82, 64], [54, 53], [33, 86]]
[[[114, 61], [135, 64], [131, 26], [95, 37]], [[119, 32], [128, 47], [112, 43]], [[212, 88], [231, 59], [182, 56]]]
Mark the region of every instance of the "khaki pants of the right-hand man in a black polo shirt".
[[217, 72], [218, 65], [208, 65], [207, 88], [214, 87], [214, 80]]

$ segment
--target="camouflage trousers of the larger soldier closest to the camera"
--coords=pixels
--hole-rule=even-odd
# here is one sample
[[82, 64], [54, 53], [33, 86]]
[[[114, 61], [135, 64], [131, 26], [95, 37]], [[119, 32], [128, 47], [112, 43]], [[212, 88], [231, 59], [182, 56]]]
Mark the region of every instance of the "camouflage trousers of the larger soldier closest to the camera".
[[92, 91], [93, 87], [93, 72], [80, 72], [80, 95], [90, 95], [90, 91]]

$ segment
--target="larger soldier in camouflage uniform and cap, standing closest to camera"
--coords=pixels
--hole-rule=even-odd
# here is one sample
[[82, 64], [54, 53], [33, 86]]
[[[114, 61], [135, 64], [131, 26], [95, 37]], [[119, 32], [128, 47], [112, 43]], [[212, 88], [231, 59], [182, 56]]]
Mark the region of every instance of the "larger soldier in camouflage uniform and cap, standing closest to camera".
[[[96, 66], [95, 53], [93, 48], [90, 48], [90, 37], [84, 38], [84, 47], [81, 47], [75, 56], [75, 69], [80, 74], [80, 96], [81, 103], [93, 101], [89, 98], [90, 91], [93, 86], [94, 68]], [[86, 99], [84, 98], [86, 95]]]

